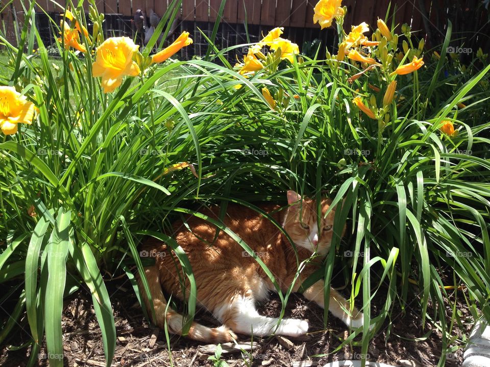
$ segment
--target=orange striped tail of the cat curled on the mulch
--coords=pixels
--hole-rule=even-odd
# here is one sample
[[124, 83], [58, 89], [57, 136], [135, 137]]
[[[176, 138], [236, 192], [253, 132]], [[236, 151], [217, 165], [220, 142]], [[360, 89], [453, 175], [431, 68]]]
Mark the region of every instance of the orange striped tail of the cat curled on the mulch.
[[[146, 279], [148, 279], [148, 285], [150, 286], [150, 293], [152, 294], [153, 305], [155, 307], [156, 320], [153, 320], [153, 322], [160, 329], [164, 329], [166, 324], [166, 327], [170, 333], [182, 335], [184, 318], [173, 309], [170, 309], [169, 307], [167, 308], [167, 301], [165, 300], [165, 296], [162, 292], [160, 272], [158, 271], [158, 268], [156, 266], [151, 266], [145, 268], [144, 272], [146, 274]], [[143, 290], [141, 279], [139, 277], [138, 286], [140, 294], [142, 295], [143, 301], [146, 305], [146, 309], [148, 310], [148, 314], [153, 319], [150, 302], [148, 301], [148, 297], [146, 297], [146, 292]], [[201, 342], [214, 344], [233, 342], [233, 339], [237, 339], [235, 333], [225, 325], [217, 328], [210, 328], [198, 324], [197, 322], [192, 323], [189, 332], [187, 333], [187, 337], [194, 340], [200, 340]]]

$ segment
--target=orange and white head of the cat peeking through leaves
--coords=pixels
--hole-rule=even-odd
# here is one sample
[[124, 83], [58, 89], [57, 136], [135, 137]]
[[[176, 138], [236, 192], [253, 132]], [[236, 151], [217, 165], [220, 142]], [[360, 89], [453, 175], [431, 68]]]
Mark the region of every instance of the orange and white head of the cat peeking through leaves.
[[330, 207], [332, 200], [322, 198], [320, 203], [322, 216], [320, 218], [320, 228], [318, 228], [317, 206], [316, 201], [307, 197], [301, 197], [298, 193], [288, 190], [287, 202], [289, 207], [284, 218], [284, 229], [297, 245], [306, 248], [311, 252], [319, 255], [326, 255], [332, 243], [332, 236], [342, 233], [333, 232], [333, 219], [335, 217], [335, 207], [331, 210], [326, 218], [325, 213]]

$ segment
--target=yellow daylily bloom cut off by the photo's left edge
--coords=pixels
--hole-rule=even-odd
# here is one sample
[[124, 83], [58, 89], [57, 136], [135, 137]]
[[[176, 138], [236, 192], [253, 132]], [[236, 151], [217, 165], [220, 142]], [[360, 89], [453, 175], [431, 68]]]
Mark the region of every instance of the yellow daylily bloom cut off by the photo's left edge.
[[0, 86], [0, 128], [5, 135], [17, 133], [18, 123], [32, 124], [36, 110], [14, 87]]

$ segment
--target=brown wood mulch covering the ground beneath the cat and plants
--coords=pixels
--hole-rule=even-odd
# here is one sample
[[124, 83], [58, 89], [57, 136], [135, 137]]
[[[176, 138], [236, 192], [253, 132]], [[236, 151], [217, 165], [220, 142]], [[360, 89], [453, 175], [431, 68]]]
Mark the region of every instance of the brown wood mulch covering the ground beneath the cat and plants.
[[[114, 309], [117, 342], [114, 366], [170, 366], [168, 347], [165, 334], [155, 329], [144, 320], [143, 314], [136, 301], [133, 289], [126, 279], [108, 281]], [[348, 294], [347, 291], [341, 291]], [[384, 292], [384, 293], [383, 293]], [[374, 299], [372, 315], [377, 316], [378, 310], [384, 304], [385, 290], [379, 291], [381, 299]], [[462, 295], [459, 292], [458, 299]], [[451, 300], [453, 301], [454, 300]], [[386, 320], [370, 343], [367, 359], [394, 365], [405, 365], [403, 360], [413, 361], [413, 365], [435, 366], [442, 350], [442, 335], [435, 329], [431, 330], [429, 320], [422, 329], [420, 310], [413, 308], [415, 302], [408, 304], [403, 314], [394, 302], [393, 319]], [[67, 366], [105, 366], [101, 330], [97, 324], [87, 290], [82, 289], [66, 300], [63, 312], [63, 346], [64, 364]], [[465, 304], [459, 304], [458, 312], [462, 321], [462, 329], [455, 325], [452, 335], [468, 334], [472, 326], [472, 318]], [[268, 316], [278, 317], [281, 302], [277, 295], [271, 295], [268, 302], [259, 305], [259, 311]], [[448, 306], [446, 314], [452, 310]], [[285, 317], [306, 319], [310, 329], [301, 338], [269, 337], [254, 338], [254, 349], [247, 354], [238, 350], [224, 353], [223, 360], [230, 366], [322, 366], [327, 362], [344, 359], [360, 359], [360, 337], [355, 339], [352, 346], [346, 346], [334, 352], [348, 336], [346, 326], [333, 316], [329, 316], [327, 330], [323, 328], [324, 310], [308, 302], [300, 295], [291, 295], [286, 307]], [[211, 314], [199, 310], [196, 321], [209, 326], [218, 326]], [[29, 326], [27, 320], [20, 320], [23, 331], [14, 333], [8, 343], [21, 345], [29, 341]], [[427, 335], [428, 334], [428, 335]], [[251, 338], [241, 336], [240, 342], [249, 343]], [[357, 345], [357, 346], [356, 346]], [[453, 344], [456, 345], [456, 344]], [[206, 349], [202, 343], [179, 337], [170, 336], [171, 358], [174, 366], [213, 366], [208, 357], [213, 355], [213, 347]], [[0, 365], [5, 367], [24, 366], [27, 363], [30, 347], [20, 350], [8, 350], [2, 346], [0, 350]], [[40, 352], [40, 366], [47, 366], [46, 350]], [[44, 359], [43, 359], [44, 358]], [[461, 364], [462, 350], [449, 355], [447, 367]], [[247, 363], [246, 363], [247, 362]]]

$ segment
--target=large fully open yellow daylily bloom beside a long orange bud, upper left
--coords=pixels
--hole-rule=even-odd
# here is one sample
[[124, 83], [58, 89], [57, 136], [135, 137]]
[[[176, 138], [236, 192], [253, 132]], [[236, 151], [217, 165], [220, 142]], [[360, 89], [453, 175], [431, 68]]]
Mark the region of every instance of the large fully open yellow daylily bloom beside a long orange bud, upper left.
[[92, 74], [102, 76], [104, 93], [113, 92], [119, 87], [123, 76], [139, 74], [139, 67], [133, 61], [133, 54], [138, 48], [129, 37], [111, 37], [97, 47]]

